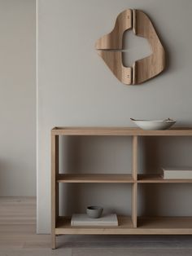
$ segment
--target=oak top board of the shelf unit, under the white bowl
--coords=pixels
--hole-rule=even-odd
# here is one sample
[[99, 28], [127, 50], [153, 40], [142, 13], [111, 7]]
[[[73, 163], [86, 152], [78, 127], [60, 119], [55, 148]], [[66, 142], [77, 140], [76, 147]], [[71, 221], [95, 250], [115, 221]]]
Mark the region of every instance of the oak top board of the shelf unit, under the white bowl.
[[142, 130], [132, 127], [55, 127], [52, 135], [122, 135], [122, 136], [191, 136], [192, 127], [176, 127], [169, 130]]

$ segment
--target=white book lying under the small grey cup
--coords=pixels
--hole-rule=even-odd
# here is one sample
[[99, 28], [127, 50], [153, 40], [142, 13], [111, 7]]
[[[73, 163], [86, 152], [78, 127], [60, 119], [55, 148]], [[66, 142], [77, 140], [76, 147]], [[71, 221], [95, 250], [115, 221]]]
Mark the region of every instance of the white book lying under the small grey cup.
[[89, 218], [87, 214], [72, 214], [71, 226], [118, 226], [116, 214], [103, 214], [100, 218]]

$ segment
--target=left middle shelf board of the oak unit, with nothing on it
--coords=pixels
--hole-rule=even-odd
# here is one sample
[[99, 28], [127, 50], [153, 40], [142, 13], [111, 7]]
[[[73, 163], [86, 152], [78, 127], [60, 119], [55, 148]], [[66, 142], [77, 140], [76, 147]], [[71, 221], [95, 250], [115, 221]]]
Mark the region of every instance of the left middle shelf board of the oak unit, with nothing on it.
[[131, 174], [59, 174], [59, 183], [134, 183]]

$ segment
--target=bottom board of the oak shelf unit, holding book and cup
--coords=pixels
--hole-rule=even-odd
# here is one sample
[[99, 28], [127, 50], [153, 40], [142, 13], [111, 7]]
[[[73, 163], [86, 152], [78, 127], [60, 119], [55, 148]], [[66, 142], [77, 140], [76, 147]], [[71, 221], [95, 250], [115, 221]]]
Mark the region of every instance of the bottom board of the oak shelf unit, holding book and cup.
[[118, 216], [118, 227], [72, 227], [71, 218], [60, 217], [56, 224], [55, 235], [191, 235], [191, 217], [137, 218], [133, 227], [130, 217]]

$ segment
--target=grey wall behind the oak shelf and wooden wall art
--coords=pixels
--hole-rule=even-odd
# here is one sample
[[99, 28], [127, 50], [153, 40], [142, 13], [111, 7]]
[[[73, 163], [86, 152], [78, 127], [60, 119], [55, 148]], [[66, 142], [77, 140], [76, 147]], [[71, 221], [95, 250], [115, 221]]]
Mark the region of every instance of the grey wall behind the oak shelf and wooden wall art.
[[[192, 125], [192, 2], [38, 0], [37, 4], [37, 232], [50, 232], [53, 126], [133, 126], [129, 117], [172, 117], [178, 126]], [[116, 16], [126, 8], [146, 11], [168, 53], [166, 72], [141, 86], [118, 82], [94, 50], [96, 40], [111, 31]], [[130, 55], [147, 54], [149, 47], [141, 40], [130, 38]], [[62, 147], [64, 171], [129, 172], [129, 139], [67, 139]], [[157, 171], [162, 165], [192, 165], [191, 147], [188, 138], [142, 139], [140, 172]], [[120, 214], [130, 213], [129, 186], [99, 186], [60, 188], [62, 204], [69, 207], [62, 207], [61, 212], [82, 212], [89, 203], [96, 203]], [[191, 205], [182, 200], [182, 196], [188, 198], [191, 187], [172, 185], [169, 189], [164, 185], [140, 187], [138, 214], [191, 214]]]

